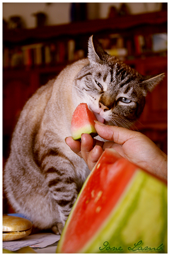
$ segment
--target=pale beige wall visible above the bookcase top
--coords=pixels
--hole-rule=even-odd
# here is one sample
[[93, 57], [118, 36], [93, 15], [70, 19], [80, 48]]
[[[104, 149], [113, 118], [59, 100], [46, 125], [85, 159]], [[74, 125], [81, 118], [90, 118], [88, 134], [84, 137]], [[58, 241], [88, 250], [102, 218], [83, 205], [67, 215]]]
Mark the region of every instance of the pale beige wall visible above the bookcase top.
[[[88, 19], [107, 18], [110, 6], [120, 8], [122, 3], [87, 3]], [[150, 11], [160, 11], [162, 3], [126, 3], [131, 14], [138, 14]], [[70, 22], [71, 3], [36, 3], [36, 2], [3, 2], [2, 16], [6, 21], [10, 16], [21, 16], [27, 28], [36, 26], [36, 18], [33, 13], [45, 12], [48, 15], [47, 25], [59, 25]]]

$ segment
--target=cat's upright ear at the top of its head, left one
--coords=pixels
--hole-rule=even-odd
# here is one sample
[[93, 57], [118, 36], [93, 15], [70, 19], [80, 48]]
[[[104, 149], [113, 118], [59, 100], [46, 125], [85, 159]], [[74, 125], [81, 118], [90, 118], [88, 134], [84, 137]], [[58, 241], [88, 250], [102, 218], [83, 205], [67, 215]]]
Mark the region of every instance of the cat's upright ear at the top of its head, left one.
[[99, 41], [92, 35], [88, 40], [88, 59], [90, 63], [103, 63], [105, 61], [105, 55], [108, 54], [104, 52]]

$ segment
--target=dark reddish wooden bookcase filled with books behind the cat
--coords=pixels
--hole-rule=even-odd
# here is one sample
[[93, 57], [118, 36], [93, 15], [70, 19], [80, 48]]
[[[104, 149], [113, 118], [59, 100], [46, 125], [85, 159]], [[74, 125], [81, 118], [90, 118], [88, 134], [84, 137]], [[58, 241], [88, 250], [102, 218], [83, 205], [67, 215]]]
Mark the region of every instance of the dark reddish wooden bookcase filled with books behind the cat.
[[[154, 35], [166, 33], [168, 12], [86, 20], [35, 29], [3, 30], [3, 156], [9, 154], [11, 134], [28, 98], [67, 65], [87, 56], [94, 34], [104, 49], [142, 74], [167, 74], [167, 49], [153, 48]], [[167, 153], [167, 76], [147, 96], [136, 124]]]

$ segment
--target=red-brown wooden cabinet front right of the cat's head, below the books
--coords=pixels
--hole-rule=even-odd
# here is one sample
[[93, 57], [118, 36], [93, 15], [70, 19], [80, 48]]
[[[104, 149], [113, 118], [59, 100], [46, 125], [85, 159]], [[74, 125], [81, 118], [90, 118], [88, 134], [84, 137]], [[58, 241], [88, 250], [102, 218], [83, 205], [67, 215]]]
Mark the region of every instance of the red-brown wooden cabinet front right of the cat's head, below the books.
[[136, 130], [142, 132], [168, 154], [168, 71], [167, 57], [150, 57], [139, 60], [136, 70], [144, 75], [165, 73], [164, 80], [148, 92]]

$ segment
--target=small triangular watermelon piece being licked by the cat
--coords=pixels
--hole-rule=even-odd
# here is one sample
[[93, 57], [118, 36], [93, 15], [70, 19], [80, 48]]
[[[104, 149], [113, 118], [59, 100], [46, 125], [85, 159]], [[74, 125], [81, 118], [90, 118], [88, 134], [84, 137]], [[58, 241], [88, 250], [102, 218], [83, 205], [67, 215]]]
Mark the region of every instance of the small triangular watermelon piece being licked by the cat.
[[97, 136], [95, 129], [96, 116], [89, 110], [87, 103], [80, 103], [71, 119], [71, 136], [74, 140], [80, 140], [82, 133], [89, 133], [91, 137]]

